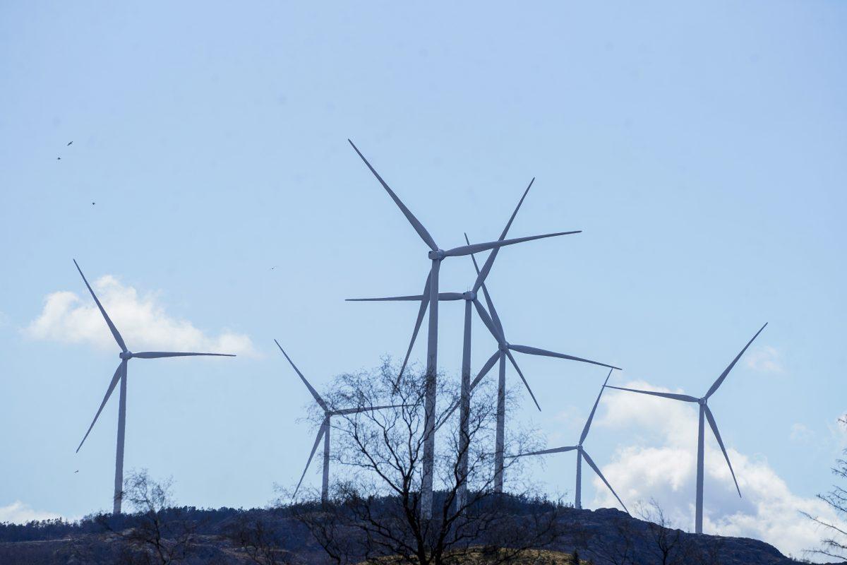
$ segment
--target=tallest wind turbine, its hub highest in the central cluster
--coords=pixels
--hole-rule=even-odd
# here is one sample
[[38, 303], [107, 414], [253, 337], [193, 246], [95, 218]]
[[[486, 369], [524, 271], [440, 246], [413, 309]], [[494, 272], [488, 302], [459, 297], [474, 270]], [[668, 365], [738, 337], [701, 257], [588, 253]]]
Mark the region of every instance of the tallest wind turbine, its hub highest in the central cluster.
[[424, 457], [423, 457], [423, 477], [421, 480], [421, 516], [422, 518], [432, 517], [432, 481], [433, 481], [433, 464], [435, 457], [435, 379], [438, 371], [438, 274], [441, 267], [441, 261], [448, 257], [461, 257], [474, 252], [483, 252], [490, 249], [495, 249], [501, 246], [512, 245], [522, 241], [537, 240], [544, 237], [552, 237], [554, 235], [566, 235], [578, 232], [558, 232], [555, 234], [532, 235], [529, 237], [518, 237], [512, 240], [490, 241], [488, 243], [477, 243], [475, 245], [458, 246], [449, 250], [441, 249], [429, 235], [429, 231], [424, 228], [414, 214], [406, 208], [406, 205], [401, 202], [400, 198], [391, 190], [390, 186], [379, 176], [374, 167], [368, 163], [368, 159], [364, 157], [362, 152], [358, 150], [352, 141], [347, 140], [358, 156], [368, 166], [371, 173], [374, 174], [379, 184], [385, 188], [391, 199], [396, 203], [397, 208], [401, 212], [412, 228], [418, 233], [420, 238], [429, 246], [429, 277], [426, 285], [424, 285], [423, 296], [429, 296], [428, 301], [421, 302], [421, 312], [418, 314], [418, 319], [422, 319], [424, 312], [424, 302], [429, 302], [429, 336], [427, 341], [427, 362], [426, 362], [426, 394], [424, 397]]

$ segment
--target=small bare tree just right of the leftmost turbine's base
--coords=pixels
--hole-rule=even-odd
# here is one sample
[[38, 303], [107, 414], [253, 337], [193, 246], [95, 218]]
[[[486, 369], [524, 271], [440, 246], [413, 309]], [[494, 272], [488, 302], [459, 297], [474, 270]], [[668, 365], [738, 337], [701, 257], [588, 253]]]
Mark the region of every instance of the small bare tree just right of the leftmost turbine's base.
[[[135, 511], [130, 528], [114, 528], [113, 518], [98, 521], [117, 535], [119, 562], [127, 565], [171, 565], [185, 561], [194, 545], [195, 524], [174, 506], [171, 479], [157, 482], [147, 469], [130, 472], [124, 480], [124, 501]], [[120, 518], [123, 519], [123, 518]]]

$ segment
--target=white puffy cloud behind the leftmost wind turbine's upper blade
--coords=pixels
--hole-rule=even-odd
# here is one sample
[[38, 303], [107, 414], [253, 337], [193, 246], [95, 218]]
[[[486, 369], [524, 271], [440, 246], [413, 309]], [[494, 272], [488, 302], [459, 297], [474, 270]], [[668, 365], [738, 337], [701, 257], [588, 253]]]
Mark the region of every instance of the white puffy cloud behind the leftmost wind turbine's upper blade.
[[[165, 312], [155, 293], [140, 296], [132, 286], [125, 286], [106, 275], [93, 285], [109, 317], [134, 351], [194, 351], [255, 355], [247, 335], [222, 331], [208, 335], [185, 319]], [[58, 291], [44, 299], [41, 315], [23, 330], [36, 340], [64, 343], [86, 343], [101, 349], [113, 349], [115, 342], [90, 296]]]

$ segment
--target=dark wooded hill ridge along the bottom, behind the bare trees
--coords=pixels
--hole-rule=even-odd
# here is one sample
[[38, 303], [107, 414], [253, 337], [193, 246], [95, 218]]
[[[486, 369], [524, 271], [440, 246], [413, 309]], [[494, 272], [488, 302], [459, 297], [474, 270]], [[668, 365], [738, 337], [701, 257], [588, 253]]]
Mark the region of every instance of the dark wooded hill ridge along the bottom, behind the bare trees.
[[[324, 552], [311, 535], [290, 515], [281, 510], [241, 510], [235, 508], [174, 508], [166, 520], [179, 520], [181, 528], [191, 530], [191, 547], [180, 561], [189, 565], [214, 563], [236, 565], [270, 562], [257, 560], [257, 546], [245, 536], [245, 523], [264, 524], [267, 555], [277, 562], [324, 563]], [[59, 520], [24, 525], [0, 524], [0, 563], [3, 565], [84, 565], [122, 562], [122, 535], [131, 531], [137, 517], [90, 517], [77, 523]], [[171, 523], [170, 526], [173, 526]], [[791, 565], [795, 561], [760, 540], [712, 535], [694, 535], [676, 529], [660, 529], [655, 524], [628, 516], [615, 509], [569, 509], [562, 518], [564, 535], [545, 551], [533, 552], [527, 565], [558, 565], [572, 562], [573, 551], [579, 559], [595, 565]], [[249, 532], [248, 532], [249, 534]], [[168, 537], [167, 535], [165, 536]], [[175, 537], [175, 535], [174, 535]], [[246, 543], [245, 543], [246, 540]], [[174, 540], [163, 541], [173, 549]], [[263, 542], [264, 543], [264, 542]], [[275, 546], [275, 547], [274, 547]], [[261, 549], [261, 548], [260, 548]], [[663, 556], [662, 553], [665, 553]], [[287, 559], [288, 561], [285, 561]], [[479, 561], [483, 563], [484, 561]]]

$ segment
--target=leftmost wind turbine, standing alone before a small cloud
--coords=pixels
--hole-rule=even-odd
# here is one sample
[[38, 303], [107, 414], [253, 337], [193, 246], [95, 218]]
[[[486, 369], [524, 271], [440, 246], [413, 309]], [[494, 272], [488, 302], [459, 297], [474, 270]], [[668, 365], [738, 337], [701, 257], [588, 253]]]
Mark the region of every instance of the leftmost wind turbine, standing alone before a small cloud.
[[112, 323], [112, 320], [109, 319], [106, 310], [102, 307], [102, 304], [97, 299], [97, 295], [94, 294], [94, 291], [91, 289], [91, 285], [88, 284], [88, 280], [86, 279], [86, 275], [82, 274], [82, 269], [80, 269], [79, 263], [76, 263], [76, 259], [74, 259], [74, 264], [76, 265], [76, 270], [80, 271], [80, 276], [82, 280], [85, 281], [86, 287], [88, 287], [88, 291], [91, 292], [91, 297], [94, 298], [94, 302], [97, 303], [97, 307], [100, 309], [100, 313], [102, 313], [103, 319], [106, 320], [106, 325], [108, 325], [108, 329], [112, 332], [114, 337], [114, 341], [118, 342], [118, 346], [120, 347], [120, 364], [118, 365], [118, 369], [114, 372], [114, 376], [112, 377], [112, 381], [108, 385], [108, 389], [106, 389], [106, 396], [103, 396], [103, 401], [100, 403], [100, 407], [97, 408], [97, 414], [94, 415], [94, 419], [91, 420], [91, 425], [88, 426], [88, 431], [86, 431], [86, 435], [80, 441], [80, 446], [76, 448], [76, 451], [80, 451], [80, 447], [82, 444], [86, 442], [86, 438], [89, 434], [91, 434], [91, 429], [94, 427], [94, 424], [97, 422], [97, 418], [100, 417], [100, 413], [104, 406], [106, 406], [106, 402], [108, 402], [109, 396], [112, 396], [112, 392], [114, 391], [114, 387], [118, 385], [118, 381], [120, 381], [120, 398], [118, 404], [118, 448], [115, 453], [115, 463], [114, 463], [114, 502], [112, 507], [112, 513], [118, 515], [120, 513], [120, 503], [123, 498], [123, 488], [124, 488], [124, 435], [126, 429], [126, 365], [130, 362], [130, 359], [133, 357], [137, 357], [139, 359], [158, 359], [160, 357], [193, 357], [193, 356], [211, 356], [211, 357], [235, 357], [235, 355], [230, 355], [227, 353], [188, 353], [188, 352], [130, 352], [129, 349], [126, 348], [126, 344], [124, 342], [124, 338], [121, 337], [118, 329]]

